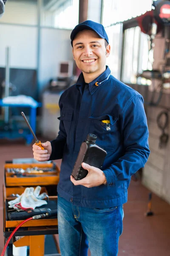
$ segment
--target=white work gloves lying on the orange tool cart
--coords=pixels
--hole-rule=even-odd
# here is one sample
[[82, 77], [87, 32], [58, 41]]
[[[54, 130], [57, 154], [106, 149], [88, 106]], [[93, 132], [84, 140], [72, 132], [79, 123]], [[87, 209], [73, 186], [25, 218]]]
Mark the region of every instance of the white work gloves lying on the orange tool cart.
[[8, 202], [9, 208], [14, 209], [35, 209], [43, 204], [47, 204], [43, 198], [47, 197], [46, 193], [40, 195], [41, 187], [37, 186], [35, 189], [33, 187], [26, 188], [22, 195], [18, 198]]

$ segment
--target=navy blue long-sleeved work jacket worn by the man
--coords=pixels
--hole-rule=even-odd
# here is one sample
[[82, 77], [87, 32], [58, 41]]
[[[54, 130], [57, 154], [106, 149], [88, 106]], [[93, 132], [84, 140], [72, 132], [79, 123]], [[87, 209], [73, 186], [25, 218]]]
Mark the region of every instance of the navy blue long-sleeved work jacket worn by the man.
[[[51, 141], [50, 158], [62, 158], [59, 195], [74, 205], [91, 208], [127, 202], [130, 177], [144, 167], [150, 153], [142, 96], [111, 76], [106, 67], [104, 73], [86, 85], [81, 73], [77, 83], [62, 93], [59, 107], [59, 134]], [[105, 119], [110, 120], [110, 131], [101, 122]], [[88, 133], [96, 134], [96, 144], [107, 151], [102, 166], [107, 185], [87, 188], [74, 186], [70, 180]]]

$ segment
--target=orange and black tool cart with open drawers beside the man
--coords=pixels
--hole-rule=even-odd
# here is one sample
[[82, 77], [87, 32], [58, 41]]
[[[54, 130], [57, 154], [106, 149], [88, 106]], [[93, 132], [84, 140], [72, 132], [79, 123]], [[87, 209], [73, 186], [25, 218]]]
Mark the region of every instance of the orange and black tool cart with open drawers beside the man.
[[[42, 192], [47, 192], [49, 201], [44, 206], [38, 208], [50, 208], [51, 210], [57, 209], [57, 184], [59, 182], [59, 166], [55, 165], [54, 171], [51, 172], [51, 175], [47, 175], [47, 172], [44, 172], [44, 177], [42, 173], [40, 177], [15, 177], [10, 175], [7, 172], [8, 168], [32, 168], [37, 166], [39, 168], [46, 168], [52, 166], [45, 163], [39, 164], [13, 164], [6, 163], [4, 166], [4, 184], [3, 184], [3, 236], [5, 240], [11, 235], [12, 231], [17, 227], [23, 220], [10, 220], [8, 218], [8, 212], [10, 208], [8, 207], [8, 201], [13, 200], [14, 198], [11, 195], [19, 194], [21, 195], [26, 187], [30, 186], [41, 186]], [[54, 174], [55, 172], [55, 174]], [[13, 179], [13, 180], [12, 180]], [[53, 235], [55, 240], [56, 248], [58, 253], [59, 244], [56, 239], [56, 234], [58, 234], [58, 221], [57, 216], [45, 219], [36, 219], [27, 221], [23, 224], [19, 230], [14, 234], [12, 243], [15, 247], [29, 246], [29, 255], [30, 256], [44, 256], [44, 244], [45, 244], [45, 235]], [[15, 236], [23, 236], [19, 240], [15, 241]], [[8, 252], [7, 254], [8, 255]], [[60, 255], [60, 254], [58, 254]]]

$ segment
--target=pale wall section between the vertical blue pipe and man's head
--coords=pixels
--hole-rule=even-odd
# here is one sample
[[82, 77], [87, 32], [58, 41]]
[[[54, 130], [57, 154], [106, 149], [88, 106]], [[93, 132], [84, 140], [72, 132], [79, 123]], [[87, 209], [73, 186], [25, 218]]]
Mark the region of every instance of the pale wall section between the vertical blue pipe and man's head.
[[60, 61], [73, 61], [70, 30], [46, 29], [40, 32], [40, 91], [59, 73]]

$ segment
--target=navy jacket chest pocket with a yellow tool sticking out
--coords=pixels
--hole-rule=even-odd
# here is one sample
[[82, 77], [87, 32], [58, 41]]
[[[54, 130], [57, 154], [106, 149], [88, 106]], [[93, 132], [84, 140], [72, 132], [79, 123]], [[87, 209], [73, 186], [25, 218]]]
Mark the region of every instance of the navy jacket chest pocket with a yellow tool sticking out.
[[106, 151], [116, 151], [120, 143], [118, 118], [111, 115], [90, 116], [90, 133], [96, 134], [96, 144]]

